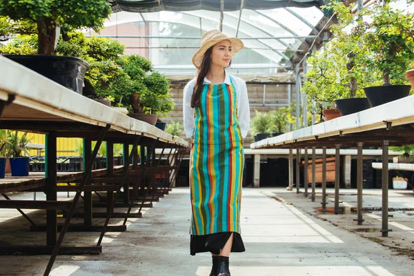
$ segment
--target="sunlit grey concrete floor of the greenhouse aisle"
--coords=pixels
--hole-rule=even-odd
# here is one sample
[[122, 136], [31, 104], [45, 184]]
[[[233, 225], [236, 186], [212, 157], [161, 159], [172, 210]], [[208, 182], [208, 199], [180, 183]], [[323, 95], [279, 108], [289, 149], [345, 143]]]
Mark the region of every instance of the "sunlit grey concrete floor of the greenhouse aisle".
[[[188, 192], [174, 188], [154, 208], [146, 209], [143, 218], [130, 219], [127, 232], [108, 233], [101, 255], [58, 256], [51, 275], [208, 275], [210, 255], [189, 254]], [[241, 219], [246, 252], [230, 255], [232, 275], [414, 275], [412, 259], [346, 228], [355, 224], [351, 219], [355, 215], [337, 216], [335, 226], [314, 212], [320, 200], [309, 202], [284, 188], [244, 188]], [[28, 232], [28, 223], [16, 216], [14, 210], [0, 210], [0, 242], [17, 243], [18, 235], [26, 235], [26, 244], [42, 244], [44, 234]], [[30, 217], [40, 222], [44, 213], [35, 211]], [[98, 235], [68, 233], [65, 242], [94, 244]], [[413, 233], [410, 239], [414, 241]], [[43, 275], [48, 258], [0, 256], [0, 275]]]

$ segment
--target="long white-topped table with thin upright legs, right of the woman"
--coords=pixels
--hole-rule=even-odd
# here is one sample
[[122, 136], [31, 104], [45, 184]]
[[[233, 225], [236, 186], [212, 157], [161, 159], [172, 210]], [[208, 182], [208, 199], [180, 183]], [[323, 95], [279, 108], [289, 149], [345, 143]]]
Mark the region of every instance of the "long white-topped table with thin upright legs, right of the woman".
[[[305, 164], [308, 162], [308, 148], [312, 148], [313, 175], [315, 175], [315, 149], [322, 148], [322, 210], [326, 209], [326, 147], [335, 147], [335, 214], [339, 213], [339, 150], [357, 147], [357, 221], [363, 224], [363, 147], [382, 147], [382, 237], [388, 237], [388, 146], [414, 144], [414, 96], [408, 96], [390, 103], [370, 108], [331, 121], [288, 132], [277, 137], [263, 139], [250, 144], [250, 148], [288, 148], [289, 164], [293, 168], [293, 149], [296, 149], [296, 164], [299, 167], [300, 150], [304, 149]], [[304, 170], [305, 195], [307, 194], [308, 170]], [[290, 169], [293, 175], [293, 169]], [[299, 170], [297, 170], [299, 179]], [[315, 201], [315, 178], [312, 179], [312, 200]], [[299, 183], [296, 183], [299, 193]]]

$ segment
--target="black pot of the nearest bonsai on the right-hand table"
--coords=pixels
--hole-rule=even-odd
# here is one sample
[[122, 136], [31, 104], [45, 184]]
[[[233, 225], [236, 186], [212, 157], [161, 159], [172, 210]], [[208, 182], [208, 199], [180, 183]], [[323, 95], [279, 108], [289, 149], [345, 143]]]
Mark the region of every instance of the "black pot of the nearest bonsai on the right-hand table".
[[371, 107], [380, 106], [390, 101], [407, 97], [411, 86], [371, 86], [364, 88]]

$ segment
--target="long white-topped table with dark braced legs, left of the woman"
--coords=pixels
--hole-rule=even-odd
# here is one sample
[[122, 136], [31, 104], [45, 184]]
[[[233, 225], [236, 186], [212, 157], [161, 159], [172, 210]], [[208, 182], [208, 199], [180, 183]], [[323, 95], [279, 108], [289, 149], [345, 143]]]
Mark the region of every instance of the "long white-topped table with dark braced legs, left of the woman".
[[[101, 239], [106, 232], [115, 201], [110, 202], [112, 208], [108, 212], [97, 246], [59, 249], [62, 249], [61, 243], [70, 226], [70, 219], [75, 212], [81, 193], [84, 199], [84, 224], [92, 225], [92, 190], [94, 190], [92, 181], [96, 177], [92, 174], [92, 160], [95, 159], [97, 150], [103, 141], [106, 141], [108, 147], [108, 164], [113, 164], [113, 144], [124, 144], [125, 169], [118, 183], [112, 185], [112, 190], [108, 189], [108, 193], [115, 193], [117, 196], [122, 186], [124, 188], [129, 186], [128, 183], [124, 183], [124, 180], [128, 175], [130, 165], [141, 170], [157, 166], [155, 154], [152, 155], [155, 148], [172, 148], [172, 155], [177, 156], [188, 147], [188, 142], [143, 121], [132, 119], [97, 101], [83, 97], [5, 57], [0, 57], [0, 76], [0, 128], [46, 134], [46, 172], [43, 179], [34, 178], [3, 186], [5, 187], [3, 191], [44, 187], [46, 201], [1, 200], [0, 208], [8, 208], [11, 205], [28, 208], [30, 205], [30, 208], [37, 206], [39, 209], [46, 209], [47, 244], [41, 247], [41, 251], [52, 253], [45, 271], [45, 275], [48, 275], [58, 253], [99, 253], [101, 251]], [[70, 201], [68, 216], [59, 237], [57, 237], [57, 209], [62, 208], [62, 203], [57, 201], [56, 184], [63, 179], [58, 176], [56, 170], [57, 137], [81, 137], [85, 143], [83, 174], [77, 175], [77, 177], [81, 176], [79, 190], [74, 199]], [[93, 149], [92, 141], [97, 141]], [[132, 151], [129, 150], [130, 145], [132, 145]], [[137, 146], [141, 146], [140, 160], [137, 158]], [[144, 152], [148, 154], [144, 155]], [[107, 166], [106, 172], [111, 175], [115, 170], [112, 166]], [[66, 178], [68, 179], [70, 177]], [[128, 198], [126, 199], [129, 201]], [[37, 248], [40, 247], [21, 246], [17, 249], [21, 252], [36, 253], [40, 251]], [[1, 253], [7, 250], [10, 250], [10, 253], [14, 252], [14, 248], [0, 248]], [[66, 252], [63, 252], [65, 250]]]

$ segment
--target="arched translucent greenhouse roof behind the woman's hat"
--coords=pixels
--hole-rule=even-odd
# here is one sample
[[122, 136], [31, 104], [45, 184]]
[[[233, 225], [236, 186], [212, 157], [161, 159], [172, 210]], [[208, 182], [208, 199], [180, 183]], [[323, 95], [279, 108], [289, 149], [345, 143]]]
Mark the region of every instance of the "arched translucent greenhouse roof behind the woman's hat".
[[[101, 34], [126, 44], [126, 52], [139, 52], [155, 68], [168, 75], [193, 75], [191, 63], [204, 32], [218, 29], [221, 13], [212, 10], [115, 12]], [[311, 44], [324, 14], [317, 7], [275, 8], [224, 12], [223, 32], [239, 37], [245, 48], [233, 58], [230, 70], [273, 75], [293, 68], [290, 57], [302, 54], [299, 47]], [[94, 34], [90, 32], [90, 34]], [[137, 47], [137, 45], [140, 45]], [[139, 49], [139, 51], [137, 51]]]

